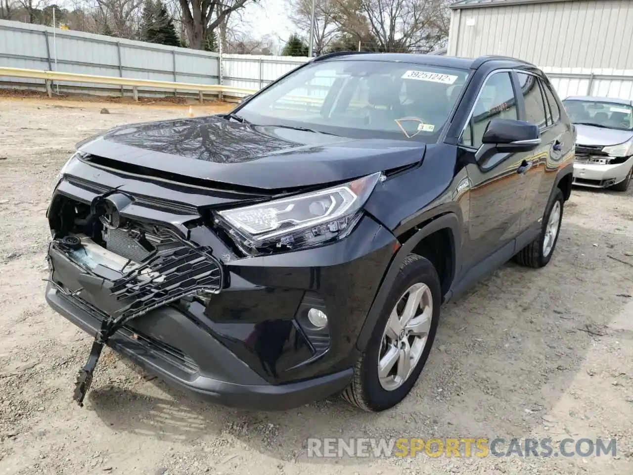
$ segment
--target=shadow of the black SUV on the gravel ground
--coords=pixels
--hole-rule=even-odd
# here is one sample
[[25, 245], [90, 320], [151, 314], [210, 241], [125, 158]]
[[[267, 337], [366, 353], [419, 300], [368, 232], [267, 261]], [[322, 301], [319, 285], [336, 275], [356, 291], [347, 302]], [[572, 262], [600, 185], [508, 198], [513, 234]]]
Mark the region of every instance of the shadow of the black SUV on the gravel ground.
[[633, 258], [627, 265], [625, 257], [618, 262], [608, 255], [631, 249], [633, 239], [624, 233], [565, 223], [548, 267], [507, 263], [444, 306], [418, 383], [398, 407], [380, 414], [353, 409], [340, 398], [284, 412], [228, 409], [159, 379], [142, 394], [94, 388], [89, 401], [116, 431], [202, 444], [236, 439], [280, 460], [325, 464], [348, 459], [307, 459], [308, 438], [527, 437], [624, 308], [627, 300], [617, 295], [630, 291]]

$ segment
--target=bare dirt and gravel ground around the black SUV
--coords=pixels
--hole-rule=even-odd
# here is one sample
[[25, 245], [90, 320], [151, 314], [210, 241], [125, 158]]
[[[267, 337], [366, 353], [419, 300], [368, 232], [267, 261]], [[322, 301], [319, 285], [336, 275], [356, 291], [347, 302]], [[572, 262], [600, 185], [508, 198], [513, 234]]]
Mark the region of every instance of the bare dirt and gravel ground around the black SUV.
[[[287, 412], [226, 409], [172, 390], [109, 350], [85, 407], [73, 403], [91, 339], [44, 301], [54, 179], [78, 140], [187, 109], [0, 99], [0, 473], [633, 473], [630, 191], [574, 189], [548, 267], [508, 263], [446, 305], [417, 386], [382, 414], [337, 398]], [[617, 438], [618, 453], [306, 457], [308, 437], [354, 436]]]

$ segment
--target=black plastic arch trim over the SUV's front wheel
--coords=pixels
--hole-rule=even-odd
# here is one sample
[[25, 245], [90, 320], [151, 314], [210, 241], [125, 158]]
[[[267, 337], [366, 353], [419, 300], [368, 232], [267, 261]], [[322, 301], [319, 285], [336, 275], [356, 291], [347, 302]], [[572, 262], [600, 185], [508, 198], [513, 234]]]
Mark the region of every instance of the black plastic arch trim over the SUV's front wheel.
[[[423, 239], [428, 238], [432, 234], [446, 230], [448, 232], [448, 236], [450, 239], [450, 247], [451, 247], [451, 270], [449, 271], [450, 277], [447, 289], [451, 287], [451, 284], [454, 282], [455, 277], [457, 275], [458, 270], [461, 265], [461, 245], [460, 245], [460, 236], [461, 236], [461, 222], [457, 215], [453, 212], [448, 212], [442, 215], [434, 216], [423, 222], [423, 224], [418, 225], [410, 232], [406, 232], [401, 235], [399, 240], [402, 241], [402, 244], [398, 251], [394, 254], [394, 257], [387, 267], [387, 270], [380, 281], [380, 287], [378, 292], [376, 293], [375, 298], [373, 299], [372, 306], [367, 314], [367, 319], [365, 319], [365, 323], [358, 335], [358, 339], [356, 341], [356, 346], [359, 350], [365, 350], [365, 346], [367, 346], [367, 342], [369, 341], [370, 336], [372, 335], [373, 327], [380, 317], [380, 312], [382, 311], [382, 307], [384, 306], [385, 300], [387, 300], [387, 296], [389, 295], [389, 291], [391, 290], [391, 285], [388, 285], [389, 282], [392, 282], [396, 275], [398, 274], [404, 259], [408, 255], [414, 252], [417, 248], [418, 244], [422, 243]], [[444, 283], [442, 282], [442, 293], [446, 295], [444, 291]], [[442, 295], [442, 297], [444, 297]]]

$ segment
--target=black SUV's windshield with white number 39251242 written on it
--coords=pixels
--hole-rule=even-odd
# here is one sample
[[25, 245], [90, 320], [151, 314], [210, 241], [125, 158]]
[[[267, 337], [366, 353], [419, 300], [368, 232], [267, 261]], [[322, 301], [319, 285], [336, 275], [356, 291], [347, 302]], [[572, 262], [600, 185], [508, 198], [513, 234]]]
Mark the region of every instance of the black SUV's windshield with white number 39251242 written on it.
[[235, 113], [255, 125], [430, 143], [439, 136], [467, 78], [466, 70], [428, 65], [317, 61]]

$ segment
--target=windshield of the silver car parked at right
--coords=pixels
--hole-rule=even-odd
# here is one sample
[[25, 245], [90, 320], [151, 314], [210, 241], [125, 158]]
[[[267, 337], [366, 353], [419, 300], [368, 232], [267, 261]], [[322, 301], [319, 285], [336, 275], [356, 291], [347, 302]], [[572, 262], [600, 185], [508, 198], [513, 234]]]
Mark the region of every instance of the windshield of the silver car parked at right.
[[563, 105], [573, 124], [633, 130], [633, 108], [626, 104], [567, 99]]

